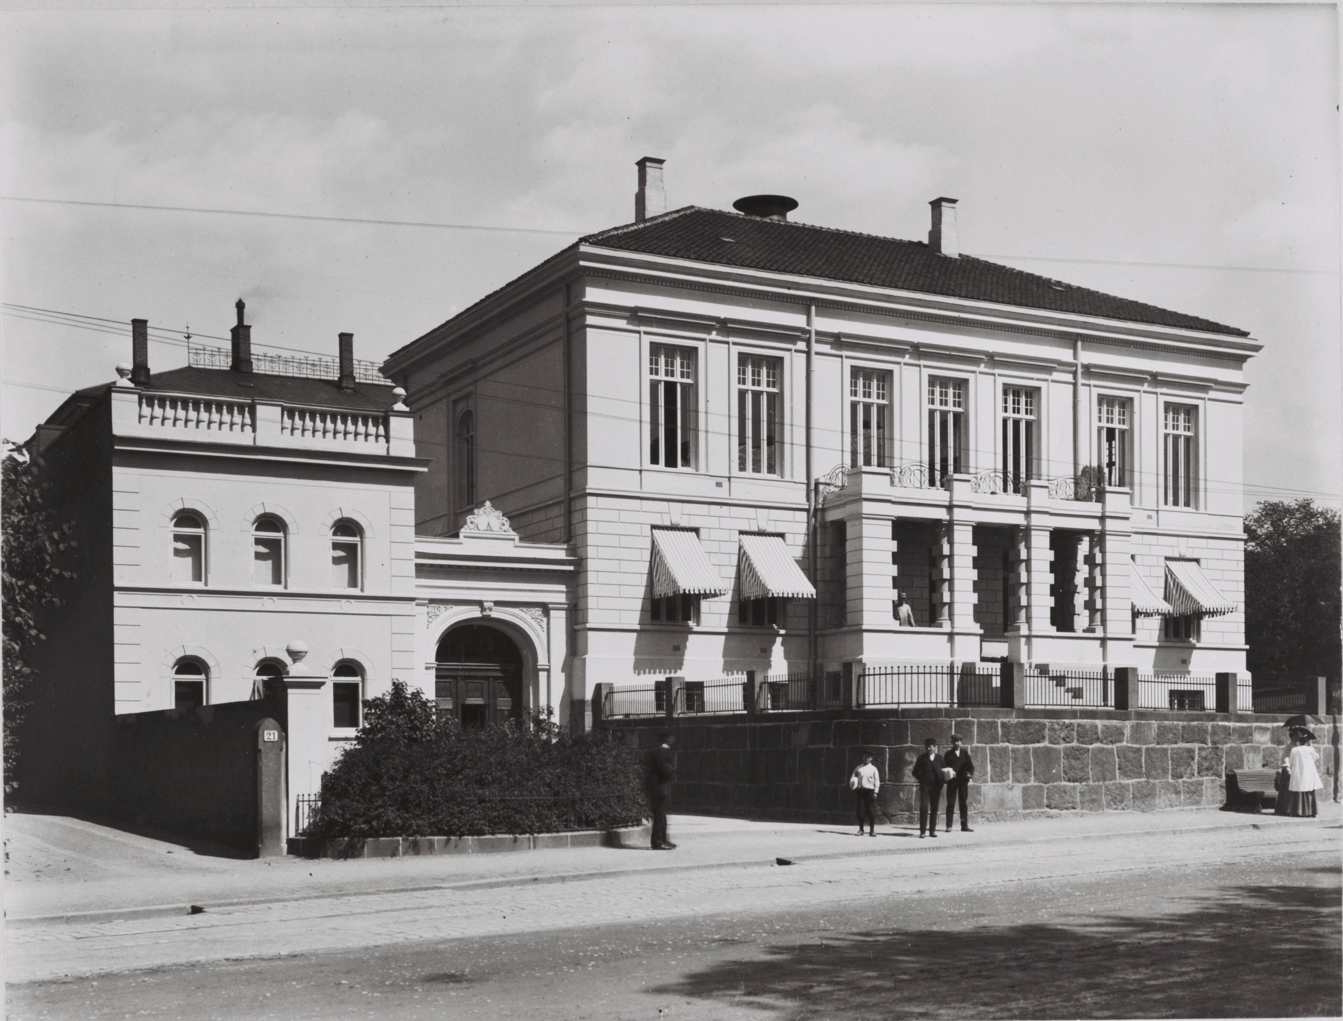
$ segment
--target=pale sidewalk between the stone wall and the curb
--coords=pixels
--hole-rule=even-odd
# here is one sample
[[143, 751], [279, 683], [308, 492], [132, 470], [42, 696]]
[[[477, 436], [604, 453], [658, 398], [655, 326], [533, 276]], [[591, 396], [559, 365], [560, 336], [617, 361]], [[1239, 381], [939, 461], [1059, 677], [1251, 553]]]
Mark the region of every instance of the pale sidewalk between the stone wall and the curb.
[[[1273, 814], [1215, 809], [1152, 813], [1069, 813], [1048, 818], [979, 824], [974, 833], [921, 840], [915, 829], [882, 826], [876, 839], [843, 826], [756, 822], [706, 816], [673, 816], [677, 851], [573, 848], [493, 855], [308, 861], [242, 860], [219, 848], [188, 845], [146, 833], [68, 816], [4, 816], [7, 926], [70, 924], [89, 920], [185, 914], [188, 906], [295, 902], [420, 890], [485, 890], [505, 885], [583, 881], [603, 875], [682, 872], [955, 849], [1049, 844], [1058, 840], [1113, 840], [1171, 832], [1287, 830], [1339, 824], [1340, 805], [1322, 804], [1316, 822]], [[97, 912], [97, 914], [91, 914]]]

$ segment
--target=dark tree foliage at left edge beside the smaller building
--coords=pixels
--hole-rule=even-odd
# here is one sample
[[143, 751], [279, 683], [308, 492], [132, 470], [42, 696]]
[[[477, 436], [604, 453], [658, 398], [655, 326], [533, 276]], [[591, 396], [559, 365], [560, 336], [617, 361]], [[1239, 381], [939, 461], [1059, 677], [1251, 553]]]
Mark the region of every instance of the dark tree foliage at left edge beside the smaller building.
[[5, 441], [0, 462], [0, 606], [4, 639], [4, 775], [5, 793], [13, 790], [19, 759], [17, 724], [26, 708], [24, 691], [32, 682], [32, 651], [44, 640], [40, 610], [59, 606], [62, 585], [75, 574], [62, 565], [78, 543], [74, 525], [56, 523], [47, 506], [48, 483], [40, 462], [23, 447]]

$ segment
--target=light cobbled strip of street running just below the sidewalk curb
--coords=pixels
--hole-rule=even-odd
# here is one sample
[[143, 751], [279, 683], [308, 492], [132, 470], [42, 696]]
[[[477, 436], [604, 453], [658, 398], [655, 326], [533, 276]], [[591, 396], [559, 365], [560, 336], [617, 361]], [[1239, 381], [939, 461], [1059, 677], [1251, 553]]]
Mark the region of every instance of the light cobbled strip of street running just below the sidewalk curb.
[[[32, 924], [7, 931], [5, 971], [7, 981], [15, 983], [193, 962], [650, 924], [669, 918], [741, 918], [763, 910], [778, 912], [870, 900], [874, 895], [943, 891], [950, 895], [1033, 881], [1089, 880], [1101, 875], [1133, 873], [1133, 883], [1144, 884], [1144, 876], [1152, 869], [1221, 868], [1283, 856], [1338, 861], [1336, 818], [1207, 825], [1206, 816], [1186, 816], [1172, 821], [1194, 825], [1148, 826], [1127, 833], [1119, 829], [1086, 833], [1086, 826], [1053, 826], [1056, 835], [1045, 839], [967, 841], [959, 847], [940, 837], [937, 841], [919, 841], [917, 837], [898, 841], [909, 851], [897, 849], [893, 839], [889, 841], [892, 849], [885, 853], [799, 855], [791, 867], [778, 867], [774, 859], [714, 865], [708, 861], [713, 856], [705, 855], [701, 867], [689, 871], [673, 865], [606, 873], [571, 872], [564, 875], [565, 881], [543, 881], [543, 875], [530, 880], [477, 876], [474, 881], [455, 884], [399, 891], [364, 888], [357, 894], [329, 892], [309, 899], [278, 894], [261, 903], [212, 906], [196, 915], [95, 922], [85, 918], [67, 924]], [[688, 830], [694, 820], [685, 822]], [[1037, 824], [1037, 832], [1046, 828], [1048, 824]], [[731, 829], [717, 832], [727, 843], [737, 841]], [[787, 845], [790, 840], [787, 835], [752, 830], [745, 832], [744, 840], [756, 843], [757, 836], [772, 844]], [[799, 837], [808, 843], [829, 837], [831, 847], [858, 843], [857, 837], [839, 833]], [[706, 832], [702, 840], [710, 844], [714, 837]], [[493, 861], [500, 857], [505, 856], [493, 856]], [[655, 856], [649, 852], [642, 857]], [[659, 857], [673, 859], [676, 853]], [[482, 879], [486, 881], [479, 881]], [[446, 954], [450, 958], [453, 951]]]

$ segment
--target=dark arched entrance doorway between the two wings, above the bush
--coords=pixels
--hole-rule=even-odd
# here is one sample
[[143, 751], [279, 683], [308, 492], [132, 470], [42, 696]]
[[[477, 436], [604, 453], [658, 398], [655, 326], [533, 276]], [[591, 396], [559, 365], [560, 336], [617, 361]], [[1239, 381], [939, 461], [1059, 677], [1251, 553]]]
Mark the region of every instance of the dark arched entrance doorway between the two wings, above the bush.
[[466, 624], [438, 643], [434, 695], [439, 712], [463, 727], [502, 723], [522, 715], [522, 653], [497, 628]]

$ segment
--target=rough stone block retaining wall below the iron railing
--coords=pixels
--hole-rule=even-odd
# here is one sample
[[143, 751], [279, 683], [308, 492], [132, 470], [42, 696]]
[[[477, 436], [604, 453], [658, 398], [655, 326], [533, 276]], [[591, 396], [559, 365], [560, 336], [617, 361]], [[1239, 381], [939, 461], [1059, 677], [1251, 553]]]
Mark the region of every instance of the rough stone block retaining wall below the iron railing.
[[[1313, 727], [1323, 800], [1338, 798], [1338, 718]], [[924, 738], [959, 734], [975, 762], [970, 810], [1003, 820], [1062, 812], [1151, 812], [1223, 804], [1228, 769], [1281, 765], [1281, 718], [1209, 712], [897, 710], [791, 714], [749, 720], [678, 718], [676, 812], [849, 824], [849, 775], [874, 755], [884, 822], [917, 822], [909, 775]], [[666, 720], [611, 720], [653, 747]]]

